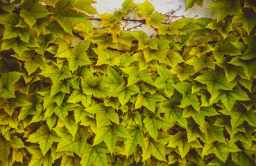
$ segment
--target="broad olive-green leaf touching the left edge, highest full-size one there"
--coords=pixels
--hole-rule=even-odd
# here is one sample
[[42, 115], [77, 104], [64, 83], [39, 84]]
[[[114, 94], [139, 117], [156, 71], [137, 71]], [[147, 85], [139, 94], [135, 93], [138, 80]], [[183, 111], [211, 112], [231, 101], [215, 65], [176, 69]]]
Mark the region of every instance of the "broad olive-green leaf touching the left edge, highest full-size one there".
[[30, 38], [29, 29], [16, 27], [16, 25], [19, 23], [19, 19], [19, 15], [15, 13], [0, 15], [1, 24], [3, 24], [5, 27], [2, 39], [19, 37], [22, 41], [28, 43]]

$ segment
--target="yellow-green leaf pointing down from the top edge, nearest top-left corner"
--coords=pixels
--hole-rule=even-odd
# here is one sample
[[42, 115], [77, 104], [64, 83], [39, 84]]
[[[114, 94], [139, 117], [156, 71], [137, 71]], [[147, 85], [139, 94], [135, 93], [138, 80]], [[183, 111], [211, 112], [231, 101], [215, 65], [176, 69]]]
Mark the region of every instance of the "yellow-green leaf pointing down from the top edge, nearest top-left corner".
[[32, 27], [36, 19], [46, 17], [50, 12], [39, 3], [39, 0], [36, 1], [22, 1], [22, 10], [20, 10], [20, 16], [24, 19], [28, 26]]

